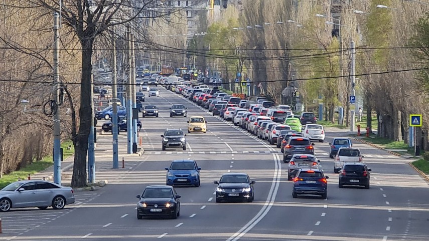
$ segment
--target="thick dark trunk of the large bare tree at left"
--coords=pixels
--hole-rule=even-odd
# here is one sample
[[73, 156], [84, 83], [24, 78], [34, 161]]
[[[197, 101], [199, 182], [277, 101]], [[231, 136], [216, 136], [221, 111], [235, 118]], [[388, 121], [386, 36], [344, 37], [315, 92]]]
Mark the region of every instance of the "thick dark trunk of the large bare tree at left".
[[91, 39], [82, 40], [82, 75], [80, 86], [79, 131], [73, 137], [75, 148], [73, 176], [71, 186], [86, 186], [86, 156], [88, 152], [88, 138], [91, 129], [91, 73], [92, 73], [92, 44]]

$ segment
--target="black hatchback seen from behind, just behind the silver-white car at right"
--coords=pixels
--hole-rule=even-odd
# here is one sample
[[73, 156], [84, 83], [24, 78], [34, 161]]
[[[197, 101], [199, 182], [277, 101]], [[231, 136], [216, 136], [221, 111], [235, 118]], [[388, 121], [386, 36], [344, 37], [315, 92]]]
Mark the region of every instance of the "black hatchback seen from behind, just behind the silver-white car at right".
[[371, 169], [360, 162], [345, 162], [342, 169], [338, 169], [340, 175], [338, 176], [338, 187], [342, 188], [343, 185], [358, 185], [365, 186], [369, 189], [369, 172]]

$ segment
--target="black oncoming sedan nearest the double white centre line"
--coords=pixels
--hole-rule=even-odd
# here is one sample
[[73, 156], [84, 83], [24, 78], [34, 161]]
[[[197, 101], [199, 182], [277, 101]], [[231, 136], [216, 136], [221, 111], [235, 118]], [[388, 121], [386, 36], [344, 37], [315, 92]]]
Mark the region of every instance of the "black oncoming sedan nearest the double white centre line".
[[254, 200], [253, 184], [246, 173], [225, 173], [219, 181], [214, 181], [216, 187], [216, 202], [223, 200], [247, 201]]

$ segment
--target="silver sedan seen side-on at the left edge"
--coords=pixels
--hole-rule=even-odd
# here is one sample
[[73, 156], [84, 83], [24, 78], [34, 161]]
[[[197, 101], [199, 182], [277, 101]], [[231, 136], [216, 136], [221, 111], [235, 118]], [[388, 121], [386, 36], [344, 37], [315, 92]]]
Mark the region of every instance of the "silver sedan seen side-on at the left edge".
[[0, 211], [11, 208], [38, 207], [62, 209], [66, 204], [74, 203], [71, 187], [60, 186], [43, 180], [17, 181], [0, 190]]

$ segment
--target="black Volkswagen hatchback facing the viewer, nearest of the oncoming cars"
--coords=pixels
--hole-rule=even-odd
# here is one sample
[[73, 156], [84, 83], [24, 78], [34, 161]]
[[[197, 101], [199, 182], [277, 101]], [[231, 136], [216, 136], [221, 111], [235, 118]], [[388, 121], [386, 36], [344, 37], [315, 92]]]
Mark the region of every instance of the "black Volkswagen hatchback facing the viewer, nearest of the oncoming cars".
[[137, 219], [144, 216], [180, 216], [180, 195], [172, 186], [147, 186], [141, 195], [136, 196]]

